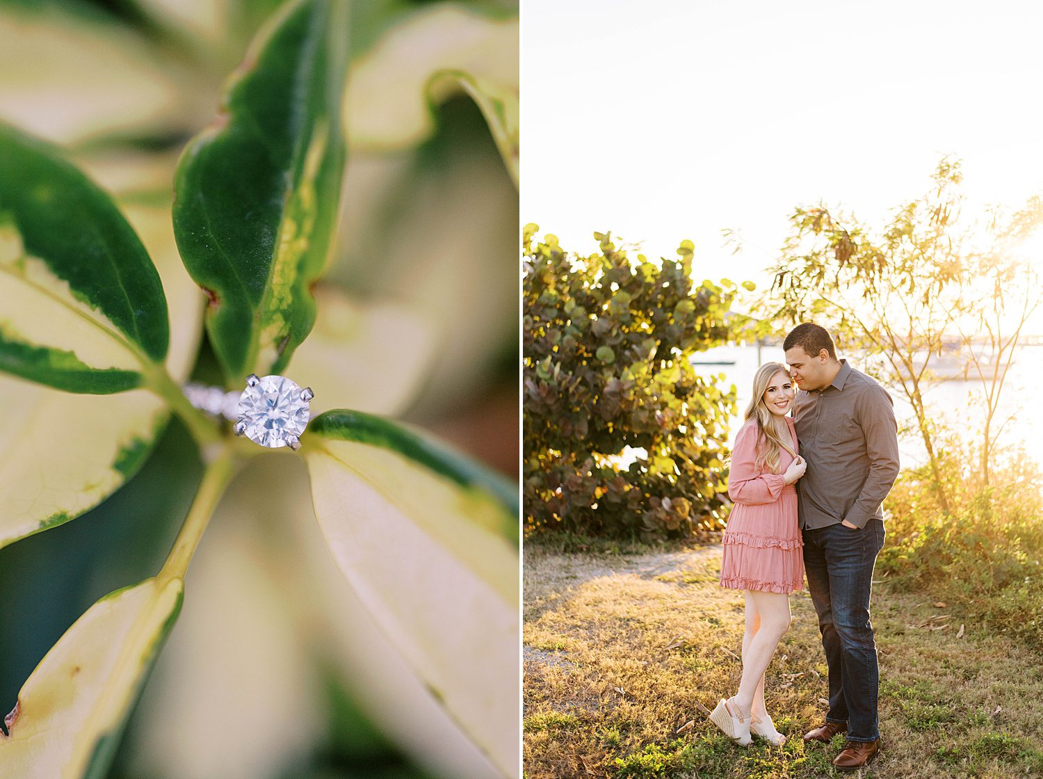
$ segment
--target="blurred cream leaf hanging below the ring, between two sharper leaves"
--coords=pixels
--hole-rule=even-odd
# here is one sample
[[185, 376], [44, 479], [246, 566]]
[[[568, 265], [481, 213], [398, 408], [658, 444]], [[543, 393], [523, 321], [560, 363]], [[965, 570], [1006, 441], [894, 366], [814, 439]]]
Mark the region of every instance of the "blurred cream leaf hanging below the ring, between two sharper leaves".
[[[264, 479], [253, 477], [257, 460], [268, 459], [233, 482], [192, 560], [188, 606], [128, 734], [129, 776], [261, 779], [307, 760], [323, 737], [312, 647], [287, 615], [307, 613], [314, 593], [297, 589], [301, 570], [263, 567], [266, 545], [291, 518], [286, 463], [265, 463]], [[311, 514], [307, 490], [293, 494]]]

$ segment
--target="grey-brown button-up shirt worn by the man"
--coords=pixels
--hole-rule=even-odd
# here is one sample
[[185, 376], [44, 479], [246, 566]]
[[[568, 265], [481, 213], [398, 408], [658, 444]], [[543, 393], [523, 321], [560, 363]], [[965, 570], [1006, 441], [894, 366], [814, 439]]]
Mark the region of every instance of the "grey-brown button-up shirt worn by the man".
[[800, 390], [794, 421], [807, 471], [797, 482], [800, 527], [882, 519], [898, 478], [898, 424], [891, 395], [841, 360], [832, 384]]

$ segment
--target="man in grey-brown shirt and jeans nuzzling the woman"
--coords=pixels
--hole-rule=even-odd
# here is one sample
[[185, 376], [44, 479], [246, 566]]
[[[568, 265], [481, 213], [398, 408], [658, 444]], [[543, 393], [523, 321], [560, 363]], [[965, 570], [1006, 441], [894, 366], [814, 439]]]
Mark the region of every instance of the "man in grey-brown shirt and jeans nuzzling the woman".
[[873, 564], [883, 546], [880, 504], [898, 477], [898, 425], [887, 391], [846, 360], [829, 333], [805, 322], [782, 344], [793, 380], [800, 454], [804, 569], [829, 667], [829, 710], [805, 741], [847, 732], [833, 759], [860, 769], [879, 750], [879, 671], [869, 620]]

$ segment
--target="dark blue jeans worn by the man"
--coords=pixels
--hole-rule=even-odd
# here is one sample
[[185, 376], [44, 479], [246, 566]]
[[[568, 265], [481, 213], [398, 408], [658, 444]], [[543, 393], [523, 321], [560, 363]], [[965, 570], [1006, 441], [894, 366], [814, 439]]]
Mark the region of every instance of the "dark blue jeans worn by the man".
[[805, 529], [803, 536], [807, 589], [829, 667], [826, 722], [847, 723], [848, 740], [874, 741], [880, 737], [880, 672], [869, 597], [873, 564], [883, 547], [883, 522], [870, 519], [859, 530], [840, 524]]

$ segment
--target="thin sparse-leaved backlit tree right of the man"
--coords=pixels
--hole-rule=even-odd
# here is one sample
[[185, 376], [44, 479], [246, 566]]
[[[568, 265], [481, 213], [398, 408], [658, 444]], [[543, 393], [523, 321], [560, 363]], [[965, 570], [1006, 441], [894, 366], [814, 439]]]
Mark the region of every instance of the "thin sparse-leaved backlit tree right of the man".
[[947, 513], [944, 424], [927, 395], [946, 381], [939, 362], [960, 358], [963, 378], [978, 383], [977, 474], [988, 483], [1003, 427], [996, 415], [1006, 368], [1024, 323], [1043, 300], [1038, 274], [1019, 251], [1043, 218], [1040, 200], [1014, 215], [994, 210], [974, 221], [963, 213], [961, 184], [959, 162], [942, 160], [929, 190], [895, 209], [879, 227], [824, 204], [796, 209], [772, 269], [772, 294], [759, 307], [772, 321], [810, 319], [828, 326], [908, 405]]

